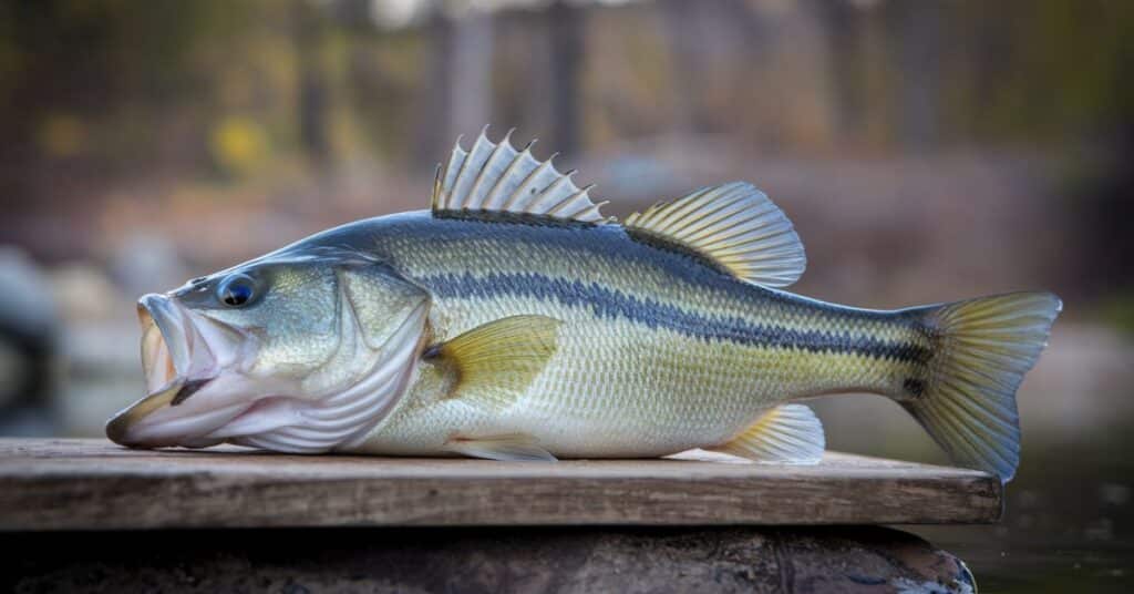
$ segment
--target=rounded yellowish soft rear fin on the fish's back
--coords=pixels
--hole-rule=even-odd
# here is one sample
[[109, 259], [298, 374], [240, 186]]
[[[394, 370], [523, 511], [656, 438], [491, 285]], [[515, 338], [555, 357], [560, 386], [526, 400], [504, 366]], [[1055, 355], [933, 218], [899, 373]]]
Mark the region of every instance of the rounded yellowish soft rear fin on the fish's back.
[[792, 221], [744, 182], [660, 202], [631, 215], [624, 226], [632, 236], [691, 250], [759, 285], [788, 286], [807, 265]]

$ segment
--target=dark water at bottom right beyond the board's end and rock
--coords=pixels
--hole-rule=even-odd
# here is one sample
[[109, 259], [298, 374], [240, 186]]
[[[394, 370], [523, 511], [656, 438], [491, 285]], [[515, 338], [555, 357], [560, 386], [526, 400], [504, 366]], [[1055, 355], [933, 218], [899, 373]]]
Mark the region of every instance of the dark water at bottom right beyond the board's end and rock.
[[1129, 445], [1095, 435], [1025, 458], [998, 525], [906, 529], [963, 559], [981, 592], [1134, 592]]

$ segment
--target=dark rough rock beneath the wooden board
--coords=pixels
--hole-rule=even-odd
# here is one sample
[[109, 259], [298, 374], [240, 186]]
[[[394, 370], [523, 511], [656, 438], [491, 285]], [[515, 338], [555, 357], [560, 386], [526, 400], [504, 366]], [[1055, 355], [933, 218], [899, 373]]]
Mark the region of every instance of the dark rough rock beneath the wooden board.
[[[324, 529], [5, 535], [16, 592], [971, 593], [887, 528]], [[66, 543], [66, 546], [64, 546]]]

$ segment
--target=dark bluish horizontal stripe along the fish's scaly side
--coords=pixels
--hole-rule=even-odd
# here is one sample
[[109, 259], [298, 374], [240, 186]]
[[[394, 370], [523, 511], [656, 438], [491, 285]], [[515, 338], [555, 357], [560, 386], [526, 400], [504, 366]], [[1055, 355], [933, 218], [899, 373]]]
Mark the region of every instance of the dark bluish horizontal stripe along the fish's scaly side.
[[640, 299], [601, 286], [535, 273], [491, 274], [477, 277], [468, 273], [440, 274], [418, 278], [441, 298], [492, 299], [501, 295], [555, 300], [564, 306], [586, 306], [599, 318], [624, 318], [649, 328], [667, 328], [704, 341], [722, 340], [770, 349], [797, 349], [810, 352], [857, 353], [878, 359], [925, 362], [929, 350], [912, 343], [890, 342], [871, 336], [797, 331], [777, 325], [753, 324], [735, 316], [702, 316], [682, 308]]

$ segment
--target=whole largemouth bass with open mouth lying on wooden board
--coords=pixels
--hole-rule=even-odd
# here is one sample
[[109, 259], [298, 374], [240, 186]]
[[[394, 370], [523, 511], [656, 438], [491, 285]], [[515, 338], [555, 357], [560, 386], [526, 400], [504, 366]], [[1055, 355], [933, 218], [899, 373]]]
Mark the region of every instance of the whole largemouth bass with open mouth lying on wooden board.
[[[129, 447], [501, 461], [687, 450], [816, 463], [802, 401], [887, 396], [951, 460], [1014, 476], [1016, 392], [1061, 301], [898, 310], [790, 293], [786, 214], [745, 182], [623, 221], [574, 171], [482, 131], [426, 210], [349, 223], [137, 304]], [[533, 141], [534, 142], [534, 141]], [[552, 157], [553, 159], [553, 157]]]

